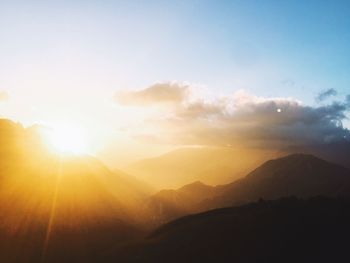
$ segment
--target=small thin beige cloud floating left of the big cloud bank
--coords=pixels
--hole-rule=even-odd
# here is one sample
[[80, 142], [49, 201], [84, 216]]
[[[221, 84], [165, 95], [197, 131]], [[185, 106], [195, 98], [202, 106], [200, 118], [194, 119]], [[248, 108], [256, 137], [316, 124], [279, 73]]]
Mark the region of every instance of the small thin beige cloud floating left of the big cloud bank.
[[118, 92], [114, 99], [122, 105], [150, 105], [159, 103], [179, 103], [188, 97], [189, 85], [177, 82], [156, 83], [135, 91]]

